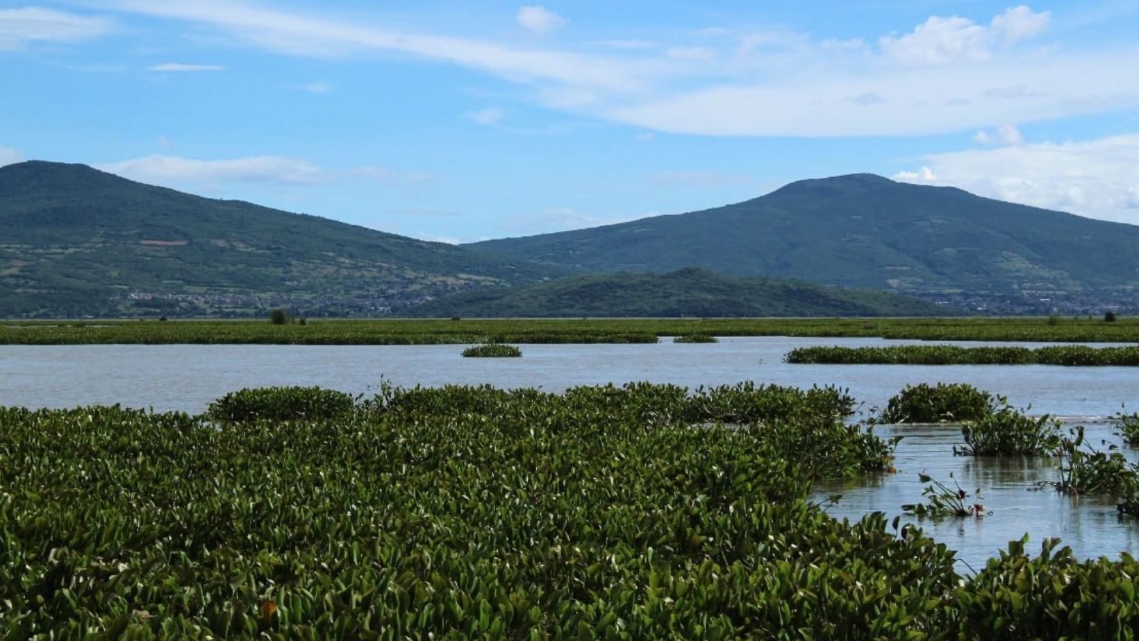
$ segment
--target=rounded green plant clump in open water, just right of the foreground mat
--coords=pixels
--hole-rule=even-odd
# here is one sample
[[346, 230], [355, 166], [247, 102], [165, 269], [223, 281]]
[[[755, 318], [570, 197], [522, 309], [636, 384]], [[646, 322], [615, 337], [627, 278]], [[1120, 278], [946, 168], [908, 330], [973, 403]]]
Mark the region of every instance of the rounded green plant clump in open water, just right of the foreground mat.
[[977, 421], [1005, 404], [1001, 397], [993, 397], [966, 383], [939, 383], [929, 385], [907, 385], [886, 403], [882, 412], [885, 422], [939, 422]]

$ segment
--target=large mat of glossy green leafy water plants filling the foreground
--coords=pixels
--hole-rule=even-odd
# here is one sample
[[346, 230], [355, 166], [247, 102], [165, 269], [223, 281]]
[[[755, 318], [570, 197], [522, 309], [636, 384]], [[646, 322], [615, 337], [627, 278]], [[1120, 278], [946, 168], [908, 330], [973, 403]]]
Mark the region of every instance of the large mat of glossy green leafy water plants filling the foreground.
[[816, 480], [892, 471], [893, 443], [843, 422], [853, 401], [632, 384], [362, 402], [244, 391], [197, 417], [0, 409], [0, 628], [19, 640], [1132, 633], [1130, 556], [1077, 561], [1014, 542], [964, 576], [920, 529], [880, 512], [838, 521], [808, 502]]

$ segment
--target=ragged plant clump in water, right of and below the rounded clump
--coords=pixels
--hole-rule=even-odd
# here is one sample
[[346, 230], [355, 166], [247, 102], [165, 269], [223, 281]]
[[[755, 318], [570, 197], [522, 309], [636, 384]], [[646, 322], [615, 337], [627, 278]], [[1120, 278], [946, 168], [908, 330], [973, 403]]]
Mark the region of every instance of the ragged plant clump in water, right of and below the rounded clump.
[[1060, 421], [1048, 414], [1029, 417], [1003, 406], [980, 420], [961, 425], [964, 447], [954, 454], [1015, 457], [1052, 454], [1060, 446]]

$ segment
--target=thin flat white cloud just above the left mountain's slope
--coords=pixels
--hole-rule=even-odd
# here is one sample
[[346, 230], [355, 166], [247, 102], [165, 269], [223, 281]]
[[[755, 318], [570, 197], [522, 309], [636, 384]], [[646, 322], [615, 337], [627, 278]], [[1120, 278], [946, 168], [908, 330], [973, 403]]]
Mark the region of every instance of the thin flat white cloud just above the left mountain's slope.
[[197, 161], [178, 156], [146, 156], [98, 169], [150, 184], [221, 184], [232, 182], [316, 183], [327, 180], [323, 170], [296, 158], [254, 156], [221, 161]]

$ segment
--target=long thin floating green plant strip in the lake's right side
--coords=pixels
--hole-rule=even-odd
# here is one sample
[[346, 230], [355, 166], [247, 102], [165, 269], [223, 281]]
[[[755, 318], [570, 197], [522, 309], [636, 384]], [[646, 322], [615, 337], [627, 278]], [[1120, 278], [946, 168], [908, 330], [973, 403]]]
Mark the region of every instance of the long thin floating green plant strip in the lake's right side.
[[886, 347], [796, 347], [788, 363], [891, 365], [1139, 365], [1139, 347], [959, 347], [956, 345], [890, 345]]

